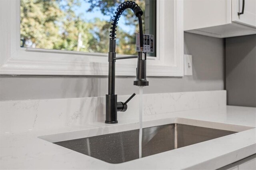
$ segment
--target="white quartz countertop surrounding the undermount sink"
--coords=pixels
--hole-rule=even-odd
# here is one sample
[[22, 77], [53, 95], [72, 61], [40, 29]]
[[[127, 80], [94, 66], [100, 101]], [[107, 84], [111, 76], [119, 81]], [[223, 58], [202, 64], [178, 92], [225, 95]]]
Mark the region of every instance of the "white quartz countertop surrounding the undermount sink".
[[211, 107], [149, 115], [143, 119], [144, 127], [182, 123], [238, 133], [110, 164], [46, 141], [47, 135], [59, 134], [55, 135], [56, 139], [48, 140], [63, 140], [132, 130], [138, 128], [135, 119], [121, 120], [117, 125], [98, 122], [79, 127], [4, 132], [0, 140], [0, 169], [216, 169], [256, 153], [256, 108], [253, 107]]

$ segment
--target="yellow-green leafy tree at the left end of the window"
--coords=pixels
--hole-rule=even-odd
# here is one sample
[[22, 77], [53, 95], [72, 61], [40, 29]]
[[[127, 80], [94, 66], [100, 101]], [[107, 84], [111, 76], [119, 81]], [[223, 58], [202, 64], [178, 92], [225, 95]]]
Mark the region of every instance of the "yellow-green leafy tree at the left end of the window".
[[56, 23], [64, 17], [56, 1], [22, 0], [20, 10], [21, 38], [31, 47], [51, 49], [60, 38]]

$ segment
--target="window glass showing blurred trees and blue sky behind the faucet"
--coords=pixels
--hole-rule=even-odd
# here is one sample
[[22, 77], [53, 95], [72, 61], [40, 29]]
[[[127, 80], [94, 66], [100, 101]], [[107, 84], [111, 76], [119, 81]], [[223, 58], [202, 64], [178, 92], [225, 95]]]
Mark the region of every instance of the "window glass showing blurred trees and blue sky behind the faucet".
[[[31, 48], [107, 53], [111, 19], [122, 2], [20, 0], [20, 39], [24, 42], [22, 45]], [[156, 1], [135, 2], [144, 11], [144, 33], [153, 34], [156, 40]], [[138, 20], [132, 10], [125, 10], [118, 21], [117, 53], [136, 54], [136, 32], [139, 32]], [[150, 55], [155, 56], [154, 53]]]

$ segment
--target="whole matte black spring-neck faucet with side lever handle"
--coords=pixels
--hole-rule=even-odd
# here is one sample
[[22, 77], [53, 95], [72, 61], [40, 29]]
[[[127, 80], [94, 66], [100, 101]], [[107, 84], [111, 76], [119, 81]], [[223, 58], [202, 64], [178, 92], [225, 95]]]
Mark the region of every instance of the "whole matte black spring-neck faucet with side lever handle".
[[[139, 28], [140, 28], [140, 51], [138, 55], [116, 57], [116, 25], [118, 20], [126, 9], [132, 9], [136, 17], [138, 17]], [[133, 95], [126, 102], [117, 102], [117, 95], [115, 95], [115, 62], [118, 59], [130, 59], [138, 58], [137, 69], [136, 69], [136, 80], [133, 85], [136, 86], [148, 86], [146, 79], [146, 53], [143, 52], [143, 30], [142, 30], [142, 18], [143, 11], [133, 1], [126, 1], [120, 4], [115, 12], [112, 27], [110, 28], [110, 39], [109, 39], [109, 52], [108, 52], [108, 94], [106, 95], [106, 121], [105, 123], [118, 123], [117, 112], [124, 112], [127, 109], [127, 103], [134, 97]]]

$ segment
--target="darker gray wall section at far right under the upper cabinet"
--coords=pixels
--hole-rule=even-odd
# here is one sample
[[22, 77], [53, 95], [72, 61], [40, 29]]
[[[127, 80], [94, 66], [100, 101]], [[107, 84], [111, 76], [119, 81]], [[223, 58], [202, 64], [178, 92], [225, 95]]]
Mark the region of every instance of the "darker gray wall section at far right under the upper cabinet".
[[226, 39], [228, 105], [256, 107], [256, 35]]

